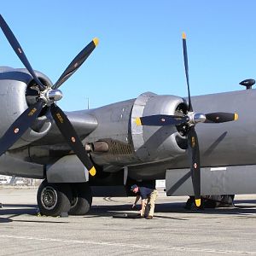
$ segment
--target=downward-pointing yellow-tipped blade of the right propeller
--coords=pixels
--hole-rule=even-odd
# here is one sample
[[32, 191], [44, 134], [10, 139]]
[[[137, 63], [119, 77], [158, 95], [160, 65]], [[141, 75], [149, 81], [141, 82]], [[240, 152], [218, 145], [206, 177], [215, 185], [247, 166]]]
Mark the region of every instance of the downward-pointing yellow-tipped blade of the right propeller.
[[200, 151], [195, 125], [189, 127], [188, 146], [191, 157], [190, 172], [192, 177], [193, 189], [195, 194], [196, 207], [201, 206], [201, 170], [200, 170]]

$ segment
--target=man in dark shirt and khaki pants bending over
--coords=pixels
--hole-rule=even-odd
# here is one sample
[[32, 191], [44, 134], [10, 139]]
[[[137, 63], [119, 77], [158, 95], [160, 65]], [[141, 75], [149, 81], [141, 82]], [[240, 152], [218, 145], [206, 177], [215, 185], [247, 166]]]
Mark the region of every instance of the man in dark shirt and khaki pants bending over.
[[[136, 206], [137, 201], [139, 201], [140, 197], [142, 198], [142, 209], [141, 209], [141, 216], [147, 219], [153, 218], [154, 215], [154, 202], [158, 196], [158, 192], [156, 189], [149, 189], [147, 187], [138, 187], [137, 184], [131, 186], [131, 191], [135, 194], [136, 200], [132, 205], [132, 208]], [[149, 207], [148, 215], [145, 214], [146, 207]]]

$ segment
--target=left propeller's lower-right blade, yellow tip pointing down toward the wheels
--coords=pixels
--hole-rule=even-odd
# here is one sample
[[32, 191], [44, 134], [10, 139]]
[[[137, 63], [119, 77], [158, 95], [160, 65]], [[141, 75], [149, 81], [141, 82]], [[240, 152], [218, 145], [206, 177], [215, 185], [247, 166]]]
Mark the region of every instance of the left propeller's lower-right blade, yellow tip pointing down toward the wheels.
[[85, 152], [84, 146], [80, 141], [80, 138], [77, 132], [73, 129], [73, 125], [67, 119], [67, 115], [54, 104], [50, 105], [50, 112], [52, 114], [53, 119], [55, 119], [55, 123], [58, 126], [61, 134], [67, 140], [69, 146], [73, 149], [73, 152], [77, 154], [79, 160], [84, 164], [87, 170], [90, 172], [91, 176], [96, 175], [96, 169], [93, 166], [89, 156]]

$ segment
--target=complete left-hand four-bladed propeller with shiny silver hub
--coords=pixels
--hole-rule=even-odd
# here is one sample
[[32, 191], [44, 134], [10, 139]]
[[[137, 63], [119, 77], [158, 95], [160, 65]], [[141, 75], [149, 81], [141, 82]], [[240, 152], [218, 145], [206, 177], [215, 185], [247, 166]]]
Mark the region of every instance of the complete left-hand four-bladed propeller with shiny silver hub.
[[60, 79], [50, 87], [45, 86], [40, 79], [38, 79], [36, 73], [32, 69], [29, 61], [26, 58], [26, 55], [21, 48], [18, 40], [15, 38], [14, 33], [11, 31], [6, 21], [3, 19], [3, 16], [0, 15], [0, 26], [3, 30], [3, 33], [11, 47], [15, 50], [16, 55], [20, 58], [20, 61], [26, 67], [27, 71], [32, 75], [35, 83], [38, 84], [40, 94], [38, 96], [37, 102], [32, 104], [27, 108], [18, 119], [9, 127], [9, 129], [4, 133], [3, 137], [0, 139], [0, 155], [6, 152], [19, 138], [26, 132], [26, 130], [32, 125], [35, 119], [38, 118], [41, 110], [43, 108], [49, 108], [50, 113], [52, 114], [55, 124], [61, 131], [61, 134], [67, 140], [69, 146], [73, 149], [73, 152], [77, 154], [79, 160], [84, 164], [87, 170], [89, 170], [90, 175], [96, 175], [96, 169], [93, 166], [90, 157], [86, 154], [83, 144], [73, 128], [73, 125], [67, 119], [67, 115], [61, 110], [61, 108], [55, 105], [55, 102], [61, 100], [62, 92], [58, 88], [63, 84], [67, 79], [69, 79], [73, 73], [75, 73], [79, 67], [84, 63], [84, 61], [89, 57], [92, 51], [96, 48], [98, 44], [98, 39], [94, 38], [90, 44], [84, 47], [79, 54], [71, 61], [67, 69], [61, 74]]

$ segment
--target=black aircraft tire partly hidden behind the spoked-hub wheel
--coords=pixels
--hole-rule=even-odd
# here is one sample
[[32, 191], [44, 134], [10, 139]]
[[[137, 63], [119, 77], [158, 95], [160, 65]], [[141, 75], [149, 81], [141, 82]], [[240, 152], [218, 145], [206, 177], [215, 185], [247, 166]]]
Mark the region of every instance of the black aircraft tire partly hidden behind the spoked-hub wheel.
[[90, 186], [87, 183], [73, 183], [73, 200], [68, 212], [70, 215], [84, 215], [90, 211], [92, 195]]

